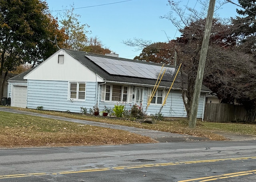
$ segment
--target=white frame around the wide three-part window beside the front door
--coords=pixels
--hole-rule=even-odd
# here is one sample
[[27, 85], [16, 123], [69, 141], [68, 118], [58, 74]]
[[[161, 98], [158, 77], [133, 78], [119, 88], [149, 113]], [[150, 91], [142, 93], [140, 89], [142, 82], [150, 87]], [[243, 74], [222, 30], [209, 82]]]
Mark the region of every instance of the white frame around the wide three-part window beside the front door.
[[[112, 100], [112, 94], [113, 94], [113, 86], [121, 86], [121, 97], [120, 97], [120, 100]], [[109, 87], [110, 87], [110, 92], [107, 92], [107, 90], [109, 90]], [[127, 93], [124, 93], [124, 87], [127, 88]], [[126, 86], [126, 85], [117, 85], [117, 84], [106, 84], [106, 88], [105, 88], [105, 102], [125, 102], [125, 103], [128, 103], [128, 96], [129, 96], [129, 86]], [[109, 94], [109, 100], [106, 100], [106, 96], [107, 94]], [[126, 101], [123, 101], [124, 99], [124, 95], [126, 95]]]

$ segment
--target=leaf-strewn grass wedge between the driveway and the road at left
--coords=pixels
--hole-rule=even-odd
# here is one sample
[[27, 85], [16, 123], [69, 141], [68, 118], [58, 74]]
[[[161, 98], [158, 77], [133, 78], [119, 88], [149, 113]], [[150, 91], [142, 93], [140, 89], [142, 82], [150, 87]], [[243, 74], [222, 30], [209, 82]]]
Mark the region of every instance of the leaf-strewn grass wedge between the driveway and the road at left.
[[127, 131], [0, 112], [0, 147], [118, 145], [153, 143]]

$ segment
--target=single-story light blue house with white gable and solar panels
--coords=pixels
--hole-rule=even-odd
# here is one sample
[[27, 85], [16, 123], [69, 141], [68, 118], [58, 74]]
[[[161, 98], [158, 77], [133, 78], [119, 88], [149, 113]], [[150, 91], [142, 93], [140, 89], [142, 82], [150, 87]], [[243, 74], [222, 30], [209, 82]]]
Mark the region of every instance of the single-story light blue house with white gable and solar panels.
[[[123, 104], [129, 110], [134, 104], [146, 109], [162, 65], [120, 57], [60, 49], [33, 70], [8, 80], [11, 106], [79, 113], [81, 107], [114, 108]], [[147, 109], [160, 111], [172, 84], [176, 68], [165, 65], [162, 81]], [[162, 71], [163, 71], [162, 70]], [[162, 75], [162, 74], [160, 74]], [[206, 94], [202, 86], [198, 118], [203, 118]], [[181, 94], [180, 73], [162, 107], [166, 117], [186, 117]]]

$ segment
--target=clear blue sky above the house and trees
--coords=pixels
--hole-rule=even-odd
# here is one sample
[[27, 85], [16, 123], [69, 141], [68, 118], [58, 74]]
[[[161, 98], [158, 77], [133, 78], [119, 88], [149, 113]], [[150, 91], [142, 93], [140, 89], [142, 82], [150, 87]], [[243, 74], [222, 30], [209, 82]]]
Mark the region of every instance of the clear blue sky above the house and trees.
[[[199, 11], [202, 8], [197, 0], [181, 1], [183, 6], [188, 3], [190, 7], [195, 7]], [[141, 53], [141, 50], [135, 51], [134, 47], [124, 45], [123, 40], [136, 37], [152, 42], [167, 42], [168, 39], [179, 36], [177, 28], [169, 20], [159, 18], [170, 12], [170, 6], [166, 5], [167, 0], [46, 0], [46, 2], [54, 17], [59, 13], [56, 10], [69, 9], [70, 5], [74, 4], [74, 8], [78, 8], [74, 13], [81, 15], [80, 23], [90, 26], [88, 30], [92, 33], [87, 36], [97, 36], [104, 47], [119, 54], [119, 57], [133, 59]], [[233, 2], [238, 4], [237, 0]], [[222, 10], [216, 13], [222, 18], [235, 17], [236, 8], [239, 7], [226, 3], [222, 6]]]

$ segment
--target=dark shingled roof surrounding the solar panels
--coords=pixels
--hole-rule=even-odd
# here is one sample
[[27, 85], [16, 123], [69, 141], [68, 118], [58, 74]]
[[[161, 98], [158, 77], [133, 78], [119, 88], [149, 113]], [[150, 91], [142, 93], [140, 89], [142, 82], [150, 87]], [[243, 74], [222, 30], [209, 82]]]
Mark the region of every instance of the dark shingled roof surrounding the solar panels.
[[[138, 78], [136, 76], [122, 76], [122, 75], [109, 74], [106, 70], [99, 67], [96, 63], [94, 63], [93, 61], [88, 59], [86, 57], [86, 55], [87, 56], [94, 56], [94, 57], [108, 58], [108, 59], [116, 59], [116, 60], [120, 60], [120, 61], [129, 61], [129, 62], [136, 62], [136, 63], [139, 62], [139, 63], [143, 63], [143, 64], [158, 65], [158, 66], [162, 67], [161, 64], [149, 63], [149, 62], [146, 62], [146, 61], [136, 61], [136, 60], [124, 59], [124, 58], [120, 58], [120, 57], [111, 57], [111, 56], [99, 55], [99, 54], [94, 54], [94, 53], [86, 53], [84, 51], [74, 51], [74, 50], [70, 50], [70, 49], [64, 49], [64, 51], [66, 51], [69, 55], [74, 57], [74, 59], [80, 61], [85, 67], [87, 67], [88, 69], [90, 69], [93, 72], [95, 72], [96, 74], [98, 74], [106, 82], [108, 82], [108, 81], [128, 82], [128, 83], [131, 83], [131, 84], [134, 83], [134, 84], [144, 84], [144, 85], [154, 86], [156, 84], [156, 79]], [[165, 67], [174, 68], [174, 66], [170, 66], [170, 65], [165, 65]], [[176, 72], [174, 74], [176, 74]], [[175, 75], [171, 75], [170, 73], [166, 73], [165, 76], [168, 76], [169, 78], [167, 78], [167, 79], [165, 78], [164, 80], [162, 80], [160, 82], [160, 86], [170, 88], [170, 86], [172, 84], [172, 80], [174, 79]], [[180, 90], [181, 89], [181, 78], [180, 77], [181, 77], [180, 73], [178, 73], [178, 76], [177, 76], [177, 78], [176, 78], [176, 80], [175, 80], [175, 82], [172, 86], [172, 89], [175, 89], [175, 90], [177, 90], [177, 89]], [[211, 90], [209, 88], [207, 88], [206, 86], [204, 86], [204, 85], [202, 85], [202, 91], [211, 92]]]

